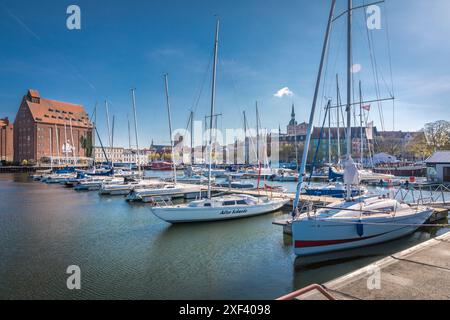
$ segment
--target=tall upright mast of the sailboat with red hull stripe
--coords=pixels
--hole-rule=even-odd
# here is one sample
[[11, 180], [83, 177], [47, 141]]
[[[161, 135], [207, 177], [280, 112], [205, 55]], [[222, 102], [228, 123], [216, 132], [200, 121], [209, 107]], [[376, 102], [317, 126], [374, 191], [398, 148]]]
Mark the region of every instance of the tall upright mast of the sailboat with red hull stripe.
[[[347, 161], [352, 157], [352, 0], [348, 0], [347, 8]], [[347, 184], [347, 200], [351, 196], [351, 185]]]

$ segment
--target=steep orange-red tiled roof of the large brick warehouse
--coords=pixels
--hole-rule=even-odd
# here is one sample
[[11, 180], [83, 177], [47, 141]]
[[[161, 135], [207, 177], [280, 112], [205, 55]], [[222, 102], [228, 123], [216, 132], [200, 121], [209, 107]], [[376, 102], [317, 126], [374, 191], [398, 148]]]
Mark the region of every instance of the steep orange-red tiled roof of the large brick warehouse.
[[33, 89], [28, 90], [24, 100], [36, 122], [92, 128], [82, 105], [41, 98]]

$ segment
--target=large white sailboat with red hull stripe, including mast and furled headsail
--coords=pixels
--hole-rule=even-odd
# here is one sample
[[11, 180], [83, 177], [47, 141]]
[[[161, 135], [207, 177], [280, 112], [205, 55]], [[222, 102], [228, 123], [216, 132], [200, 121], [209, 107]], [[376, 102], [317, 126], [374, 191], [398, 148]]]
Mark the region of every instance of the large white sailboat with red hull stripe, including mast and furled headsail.
[[[329, 43], [331, 25], [334, 19], [336, 0], [331, 1], [322, 58], [320, 62], [310, 125], [305, 141], [301, 172], [305, 172], [308, 146], [316, 108], [318, 90], [322, 76], [324, 58]], [[348, 0], [347, 11], [347, 159], [344, 166], [344, 184], [347, 189], [343, 201], [317, 208], [314, 212], [300, 214], [298, 204], [303, 175], [297, 185], [294, 200], [292, 235], [294, 252], [307, 256], [325, 252], [358, 248], [397, 239], [417, 230], [429, 219], [433, 210], [425, 206], [411, 206], [389, 197], [351, 197], [351, 187], [359, 184], [359, 171], [351, 157], [351, 114], [352, 105], [352, 0]]]

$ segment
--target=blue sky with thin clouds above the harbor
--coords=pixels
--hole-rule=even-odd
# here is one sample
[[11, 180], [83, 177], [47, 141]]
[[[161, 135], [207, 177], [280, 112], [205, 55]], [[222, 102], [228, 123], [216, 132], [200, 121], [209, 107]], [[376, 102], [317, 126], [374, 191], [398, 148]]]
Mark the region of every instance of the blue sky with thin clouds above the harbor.
[[[14, 119], [23, 95], [34, 88], [43, 97], [82, 104], [88, 113], [97, 105], [97, 126], [106, 141], [107, 99], [115, 144], [127, 146], [130, 89], [136, 88], [140, 146], [169, 143], [163, 74], [169, 74], [173, 127], [185, 128], [190, 110], [203, 121], [210, 108], [218, 15], [218, 128], [243, 127], [244, 110], [254, 127], [258, 101], [261, 125], [285, 131], [292, 103], [299, 122], [309, 118], [330, 2], [0, 0], [0, 117]], [[337, 0], [336, 15], [346, 3]], [[71, 4], [81, 9], [80, 30], [66, 27]], [[375, 99], [378, 79], [378, 96], [395, 96], [382, 112], [371, 104], [368, 119], [379, 130], [419, 130], [427, 122], [450, 120], [450, 2], [387, 0], [379, 6], [380, 30], [368, 32], [367, 13], [355, 11], [355, 100], [360, 80], [363, 100]], [[327, 99], [336, 101], [336, 74], [345, 101], [345, 45], [344, 17], [333, 25], [315, 124], [323, 121]]]

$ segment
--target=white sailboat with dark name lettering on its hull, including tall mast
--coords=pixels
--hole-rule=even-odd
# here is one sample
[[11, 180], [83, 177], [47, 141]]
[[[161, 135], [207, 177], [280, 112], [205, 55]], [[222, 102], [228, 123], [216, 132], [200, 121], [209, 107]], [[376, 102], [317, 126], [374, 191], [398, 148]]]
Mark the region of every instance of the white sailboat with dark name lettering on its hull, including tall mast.
[[212, 171], [212, 128], [215, 106], [216, 90], [216, 69], [217, 52], [219, 39], [219, 20], [216, 23], [216, 33], [214, 41], [214, 65], [212, 76], [211, 93], [211, 115], [210, 115], [210, 137], [208, 143], [209, 149], [209, 167], [208, 167], [208, 197], [206, 199], [192, 201], [188, 204], [177, 206], [159, 205], [152, 207], [151, 210], [158, 218], [169, 223], [184, 222], [203, 222], [220, 221], [236, 218], [250, 217], [265, 214], [279, 210], [288, 200], [256, 198], [247, 195], [228, 195], [221, 197], [211, 197], [211, 171]]

